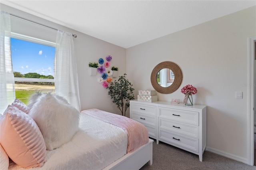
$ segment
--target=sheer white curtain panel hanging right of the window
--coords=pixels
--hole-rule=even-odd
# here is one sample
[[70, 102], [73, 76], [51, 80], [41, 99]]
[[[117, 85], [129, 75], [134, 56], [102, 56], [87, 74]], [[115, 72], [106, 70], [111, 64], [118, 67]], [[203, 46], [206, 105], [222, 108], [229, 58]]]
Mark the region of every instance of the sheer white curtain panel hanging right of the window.
[[54, 60], [55, 93], [63, 96], [70, 105], [81, 111], [72, 34], [58, 30]]

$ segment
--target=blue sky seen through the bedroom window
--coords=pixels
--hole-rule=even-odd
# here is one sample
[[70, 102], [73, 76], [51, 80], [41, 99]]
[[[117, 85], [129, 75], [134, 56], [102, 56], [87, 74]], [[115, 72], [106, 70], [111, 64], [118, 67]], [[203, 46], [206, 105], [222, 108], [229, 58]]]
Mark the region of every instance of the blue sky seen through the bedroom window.
[[13, 71], [53, 75], [55, 47], [11, 38]]

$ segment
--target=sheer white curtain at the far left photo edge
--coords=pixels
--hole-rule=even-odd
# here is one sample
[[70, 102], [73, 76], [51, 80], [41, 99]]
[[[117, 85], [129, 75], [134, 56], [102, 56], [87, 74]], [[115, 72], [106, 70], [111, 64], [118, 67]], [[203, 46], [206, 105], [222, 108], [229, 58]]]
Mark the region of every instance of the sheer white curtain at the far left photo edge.
[[14, 75], [10, 48], [10, 14], [1, 11], [0, 23], [0, 113], [15, 99]]

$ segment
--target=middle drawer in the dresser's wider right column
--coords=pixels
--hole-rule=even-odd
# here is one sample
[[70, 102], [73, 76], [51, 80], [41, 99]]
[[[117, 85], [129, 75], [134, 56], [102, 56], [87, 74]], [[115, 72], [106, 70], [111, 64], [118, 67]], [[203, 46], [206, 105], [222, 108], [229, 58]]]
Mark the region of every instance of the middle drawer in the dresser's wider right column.
[[178, 123], [177, 121], [169, 121], [167, 119], [159, 118], [158, 127], [163, 130], [169, 130], [172, 132], [182, 134], [184, 136], [199, 138], [198, 126], [182, 124], [182, 123]]

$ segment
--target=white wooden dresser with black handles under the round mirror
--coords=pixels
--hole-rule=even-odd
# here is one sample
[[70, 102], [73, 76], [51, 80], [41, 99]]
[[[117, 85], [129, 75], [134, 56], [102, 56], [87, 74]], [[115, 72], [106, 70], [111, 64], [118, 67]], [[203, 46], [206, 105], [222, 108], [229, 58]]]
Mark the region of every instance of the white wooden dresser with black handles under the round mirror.
[[130, 101], [130, 118], [148, 129], [148, 136], [199, 156], [206, 148], [206, 106], [166, 101]]

